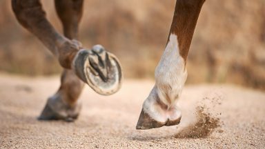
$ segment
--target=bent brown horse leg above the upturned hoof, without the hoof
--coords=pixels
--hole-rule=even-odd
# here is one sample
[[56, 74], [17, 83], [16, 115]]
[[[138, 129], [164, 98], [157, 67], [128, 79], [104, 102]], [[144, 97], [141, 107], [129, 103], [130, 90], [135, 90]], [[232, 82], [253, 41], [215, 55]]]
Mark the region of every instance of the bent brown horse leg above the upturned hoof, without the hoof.
[[21, 25], [54, 54], [63, 68], [71, 68], [72, 59], [81, 48], [79, 42], [71, 41], [59, 34], [46, 19], [39, 0], [12, 0], [12, 9]]

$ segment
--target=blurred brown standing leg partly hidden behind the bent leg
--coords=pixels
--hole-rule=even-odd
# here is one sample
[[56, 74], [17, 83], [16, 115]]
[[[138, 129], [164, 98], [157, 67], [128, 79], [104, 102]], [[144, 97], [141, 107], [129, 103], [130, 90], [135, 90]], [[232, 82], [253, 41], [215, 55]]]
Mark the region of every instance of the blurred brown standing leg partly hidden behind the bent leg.
[[[83, 0], [56, 0], [55, 6], [63, 24], [63, 34], [68, 39], [77, 39]], [[39, 119], [64, 119], [66, 121], [76, 119], [81, 110], [78, 98], [83, 87], [84, 83], [73, 70], [64, 69], [61, 74], [61, 86], [57, 93], [48, 99]]]

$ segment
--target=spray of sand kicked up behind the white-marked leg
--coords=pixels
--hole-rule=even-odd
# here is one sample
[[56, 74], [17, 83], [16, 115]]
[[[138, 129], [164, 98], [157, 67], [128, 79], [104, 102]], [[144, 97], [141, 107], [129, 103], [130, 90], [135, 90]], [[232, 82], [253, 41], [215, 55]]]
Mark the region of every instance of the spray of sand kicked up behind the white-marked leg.
[[[218, 106], [222, 104], [223, 96], [212, 92], [202, 100], [196, 101], [186, 110], [183, 121], [177, 127], [177, 138], [203, 138], [211, 135], [215, 130], [221, 128], [223, 122], [220, 119], [221, 112], [217, 112]], [[219, 132], [222, 132], [219, 129]]]

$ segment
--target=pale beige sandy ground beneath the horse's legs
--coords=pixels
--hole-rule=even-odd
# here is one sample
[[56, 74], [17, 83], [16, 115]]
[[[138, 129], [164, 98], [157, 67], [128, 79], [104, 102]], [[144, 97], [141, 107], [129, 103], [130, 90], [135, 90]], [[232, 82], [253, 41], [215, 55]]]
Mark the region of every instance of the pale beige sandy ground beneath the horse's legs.
[[[265, 148], [265, 93], [237, 86], [185, 86], [179, 126], [135, 130], [153, 84], [126, 80], [108, 97], [86, 87], [81, 115], [68, 123], [37, 120], [47, 97], [59, 86], [58, 77], [0, 74], [0, 148]], [[195, 103], [204, 101], [206, 112], [217, 117], [220, 126], [208, 136], [176, 137], [191, 123]]]

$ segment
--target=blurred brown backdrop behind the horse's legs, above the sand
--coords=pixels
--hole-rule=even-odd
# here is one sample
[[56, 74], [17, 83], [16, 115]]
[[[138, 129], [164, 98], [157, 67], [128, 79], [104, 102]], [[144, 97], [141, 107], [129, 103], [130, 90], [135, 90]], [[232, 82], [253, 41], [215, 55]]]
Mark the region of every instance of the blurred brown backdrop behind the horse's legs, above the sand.
[[[62, 32], [53, 1], [42, 1]], [[164, 50], [175, 1], [86, 0], [79, 40], [117, 55], [126, 78], [153, 79]], [[60, 74], [55, 57], [22, 28], [10, 0], [0, 1], [0, 71]], [[187, 83], [236, 83], [265, 90], [265, 1], [207, 0], [188, 54]]]

